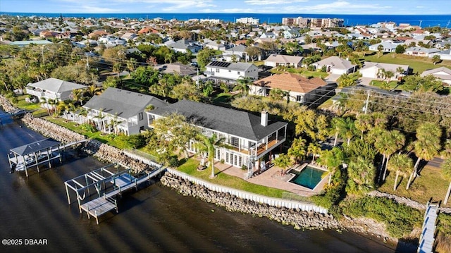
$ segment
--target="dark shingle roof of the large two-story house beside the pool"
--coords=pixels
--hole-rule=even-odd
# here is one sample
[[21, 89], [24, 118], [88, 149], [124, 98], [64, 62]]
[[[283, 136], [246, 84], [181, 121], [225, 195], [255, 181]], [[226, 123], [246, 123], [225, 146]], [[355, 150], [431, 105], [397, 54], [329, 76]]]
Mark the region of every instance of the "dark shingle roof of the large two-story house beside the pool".
[[260, 117], [252, 113], [188, 100], [181, 100], [149, 113], [166, 116], [174, 112], [182, 114], [188, 121], [204, 128], [256, 141], [287, 125], [281, 121], [268, 121], [265, 127], [261, 125]]

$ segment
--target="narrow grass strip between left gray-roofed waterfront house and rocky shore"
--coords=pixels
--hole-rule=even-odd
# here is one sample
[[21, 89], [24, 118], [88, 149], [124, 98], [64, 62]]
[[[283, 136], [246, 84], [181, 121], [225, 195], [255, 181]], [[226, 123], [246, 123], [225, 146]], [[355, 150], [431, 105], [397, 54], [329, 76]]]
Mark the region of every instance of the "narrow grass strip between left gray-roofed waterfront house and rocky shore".
[[100, 131], [97, 132], [86, 132], [83, 131], [80, 127], [78, 127], [78, 124], [72, 121], [67, 121], [63, 118], [53, 118], [51, 116], [44, 117], [47, 121], [53, 122], [57, 125], [61, 125], [65, 128], [68, 128], [70, 130], [73, 130], [74, 132], [78, 132], [81, 135], [85, 135], [88, 138], [98, 140], [99, 142], [109, 144], [113, 147], [117, 147], [118, 149], [125, 149], [127, 148], [127, 145], [125, 142], [122, 142], [121, 140], [118, 140], [118, 138], [110, 138], [108, 135], [103, 135]]

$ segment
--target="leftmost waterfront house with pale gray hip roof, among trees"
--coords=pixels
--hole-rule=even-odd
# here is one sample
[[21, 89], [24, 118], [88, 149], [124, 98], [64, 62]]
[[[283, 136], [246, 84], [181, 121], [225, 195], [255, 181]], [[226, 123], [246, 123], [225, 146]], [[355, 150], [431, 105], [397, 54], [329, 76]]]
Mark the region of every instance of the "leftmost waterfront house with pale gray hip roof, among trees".
[[[37, 97], [39, 101], [49, 99], [66, 101], [70, 99], [73, 90], [86, 89], [86, 85], [79, 85], [75, 82], [67, 82], [56, 78], [47, 78], [35, 83], [29, 83], [25, 87], [27, 94]], [[47, 104], [42, 104], [47, 107]]]

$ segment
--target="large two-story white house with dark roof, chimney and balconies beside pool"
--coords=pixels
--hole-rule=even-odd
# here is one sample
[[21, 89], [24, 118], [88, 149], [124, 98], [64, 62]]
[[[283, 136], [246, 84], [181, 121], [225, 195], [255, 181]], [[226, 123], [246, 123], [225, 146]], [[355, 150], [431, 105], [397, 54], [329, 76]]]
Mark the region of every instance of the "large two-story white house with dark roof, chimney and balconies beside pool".
[[[242, 168], [252, 162], [260, 168], [260, 162], [273, 149], [281, 147], [287, 135], [287, 123], [271, 121], [268, 113], [260, 116], [212, 104], [181, 100], [159, 109], [147, 112], [149, 126], [155, 119], [171, 113], [180, 113], [187, 121], [196, 125], [202, 134], [210, 137], [214, 133], [223, 138], [221, 147], [216, 148], [214, 158], [231, 166]], [[187, 149], [195, 153], [194, 140]], [[256, 163], [257, 161], [257, 163]]]

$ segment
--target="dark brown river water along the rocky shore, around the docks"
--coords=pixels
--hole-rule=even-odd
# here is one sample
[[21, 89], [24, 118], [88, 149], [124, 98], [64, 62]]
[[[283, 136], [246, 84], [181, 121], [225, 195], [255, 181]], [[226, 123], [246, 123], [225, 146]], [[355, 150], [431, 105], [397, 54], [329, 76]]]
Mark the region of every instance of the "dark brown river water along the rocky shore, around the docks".
[[[106, 214], [97, 225], [79, 213], [76, 202], [68, 205], [64, 181], [104, 163], [74, 157], [41, 173], [30, 169], [29, 178], [9, 173], [8, 150], [42, 138], [18, 121], [4, 119], [0, 126], [0, 237], [2, 243], [22, 242], [0, 245], [0, 252], [394, 252], [396, 247], [355, 233], [294, 230], [230, 213], [158, 182], [125, 195], [119, 214]], [[39, 240], [47, 245], [29, 245]]]

